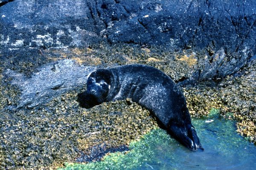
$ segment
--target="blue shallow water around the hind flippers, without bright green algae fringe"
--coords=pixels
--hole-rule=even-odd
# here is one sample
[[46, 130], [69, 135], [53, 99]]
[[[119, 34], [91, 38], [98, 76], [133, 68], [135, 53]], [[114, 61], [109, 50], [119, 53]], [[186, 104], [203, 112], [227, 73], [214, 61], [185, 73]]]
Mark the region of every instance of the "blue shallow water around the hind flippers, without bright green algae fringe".
[[256, 146], [236, 133], [235, 122], [217, 117], [211, 119], [214, 121], [209, 123], [202, 119], [193, 121], [204, 152], [191, 152], [175, 141], [171, 142], [172, 146], [159, 144], [151, 164], [134, 169], [255, 170]]

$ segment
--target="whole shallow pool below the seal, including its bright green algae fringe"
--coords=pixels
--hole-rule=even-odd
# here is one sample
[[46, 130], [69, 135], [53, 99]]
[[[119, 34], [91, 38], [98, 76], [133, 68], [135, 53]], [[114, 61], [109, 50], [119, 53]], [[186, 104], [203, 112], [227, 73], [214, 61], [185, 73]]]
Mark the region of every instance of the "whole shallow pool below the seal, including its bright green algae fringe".
[[[207, 123], [207, 119], [214, 121]], [[254, 170], [256, 146], [236, 133], [235, 122], [220, 119], [216, 112], [212, 112], [207, 119], [192, 120], [204, 147], [203, 152], [190, 151], [164, 130], [156, 129], [140, 142], [131, 143], [131, 151], [126, 154], [112, 153], [104, 161], [72, 167], [111, 170]]]

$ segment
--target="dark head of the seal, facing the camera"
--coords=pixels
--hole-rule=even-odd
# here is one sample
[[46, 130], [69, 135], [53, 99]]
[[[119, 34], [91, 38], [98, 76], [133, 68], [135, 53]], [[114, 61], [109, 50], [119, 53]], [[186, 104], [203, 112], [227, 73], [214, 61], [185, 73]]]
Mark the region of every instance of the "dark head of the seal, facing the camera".
[[108, 96], [112, 82], [113, 74], [111, 71], [105, 69], [93, 71], [87, 79], [87, 94], [94, 96], [99, 103], [102, 103]]

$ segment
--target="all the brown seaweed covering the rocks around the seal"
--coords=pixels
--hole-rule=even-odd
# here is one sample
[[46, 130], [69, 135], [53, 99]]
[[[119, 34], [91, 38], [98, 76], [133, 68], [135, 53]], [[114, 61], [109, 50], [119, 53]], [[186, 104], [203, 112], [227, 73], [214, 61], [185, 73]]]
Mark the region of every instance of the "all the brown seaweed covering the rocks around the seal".
[[[121, 44], [41, 51], [41, 59], [23, 59], [11, 69], [29, 76], [44, 62], [65, 58], [102, 67], [141, 63], [159, 68], [178, 82], [201, 70], [205, 58], [202, 52], [173, 53]], [[95, 146], [128, 145], [157, 127], [154, 117], [133, 102], [117, 101], [91, 109], [81, 108], [76, 101], [81, 88], [57, 96], [37, 109], [9, 111], [6, 107], [17, 105], [20, 91], [9, 83], [11, 79], [4, 79], [2, 73], [9, 68], [8, 63], [14, 61], [10, 57], [1, 62], [0, 169], [53, 169], [65, 161], [76, 161], [81, 153], [90, 155]], [[200, 82], [182, 87], [191, 116], [208, 116], [212, 108], [217, 108], [223, 117], [236, 119], [237, 131], [256, 143], [255, 63], [244, 67], [241, 74], [228, 76], [214, 85]]]

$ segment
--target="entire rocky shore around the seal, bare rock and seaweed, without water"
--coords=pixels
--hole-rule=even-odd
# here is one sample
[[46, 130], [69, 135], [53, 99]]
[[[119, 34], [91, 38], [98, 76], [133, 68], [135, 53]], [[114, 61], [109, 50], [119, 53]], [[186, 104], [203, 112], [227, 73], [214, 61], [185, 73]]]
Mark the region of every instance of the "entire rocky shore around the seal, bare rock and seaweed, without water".
[[255, 9], [253, 0], [0, 1], [0, 169], [99, 160], [157, 128], [129, 99], [77, 102], [90, 71], [131, 63], [168, 74], [192, 117], [219, 109], [256, 143]]

